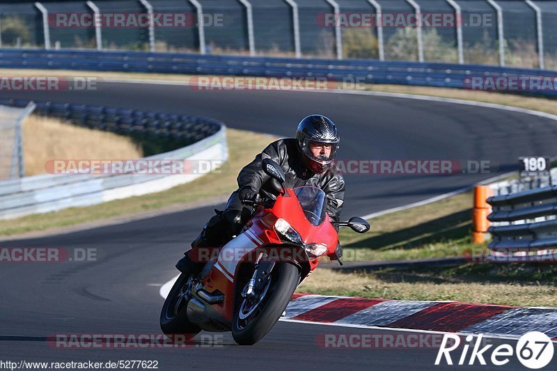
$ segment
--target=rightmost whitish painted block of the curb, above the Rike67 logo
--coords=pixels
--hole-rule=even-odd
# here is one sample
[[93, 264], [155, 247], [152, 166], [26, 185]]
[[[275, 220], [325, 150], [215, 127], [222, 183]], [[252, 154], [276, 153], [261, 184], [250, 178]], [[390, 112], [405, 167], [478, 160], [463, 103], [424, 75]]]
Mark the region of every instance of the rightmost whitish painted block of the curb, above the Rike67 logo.
[[462, 330], [464, 333], [495, 333], [521, 336], [540, 331], [549, 338], [557, 336], [557, 309], [514, 308]]

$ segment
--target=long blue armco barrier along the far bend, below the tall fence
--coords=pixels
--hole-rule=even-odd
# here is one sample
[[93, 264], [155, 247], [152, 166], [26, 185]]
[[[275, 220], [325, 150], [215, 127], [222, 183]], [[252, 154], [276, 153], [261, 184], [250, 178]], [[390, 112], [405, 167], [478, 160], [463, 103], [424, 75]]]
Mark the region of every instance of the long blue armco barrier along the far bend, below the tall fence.
[[[488, 65], [351, 59], [277, 58], [149, 52], [0, 49], [0, 68], [223, 74], [265, 77], [327, 77], [334, 81], [466, 88], [471, 77], [547, 77], [557, 71]], [[531, 90], [557, 95], [556, 88]]]

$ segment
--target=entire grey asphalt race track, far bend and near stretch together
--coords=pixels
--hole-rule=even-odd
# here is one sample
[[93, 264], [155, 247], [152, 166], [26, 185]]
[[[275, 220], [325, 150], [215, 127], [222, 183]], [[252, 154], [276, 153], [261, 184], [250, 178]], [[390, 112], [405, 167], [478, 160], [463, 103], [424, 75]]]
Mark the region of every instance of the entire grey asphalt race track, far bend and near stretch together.
[[[489, 160], [497, 166], [496, 171], [480, 175], [346, 175], [345, 217], [405, 205], [515, 170], [521, 155], [557, 155], [557, 123], [524, 113], [329, 93], [98, 86], [96, 92], [27, 92], [9, 97], [210, 116], [228, 127], [281, 136], [291, 136], [306, 114], [324, 113], [340, 126], [342, 159]], [[65, 248], [70, 255], [76, 248], [94, 248], [98, 258], [1, 266], [0, 360], [156, 360], [161, 370], [442, 369], [434, 366], [437, 348], [324, 349], [315, 342], [324, 333], [393, 331], [288, 322], [279, 322], [253, 347], [235, 345], [228, 333], [217, 339], [216, 346], [207, 347], [199, 338], [190, 349], [56, 349], [46, 344], [47, 336], [59, 333], [159, 333], [159, 287], [175, 276], [175, 260], [211, 214], [212, 207], [203, 207], [67, 235], [3, 242], [2, 247]], [[492, 341], [500, 342], [515, 344]], [[513, 358], [505, 369], [523, 366]]]

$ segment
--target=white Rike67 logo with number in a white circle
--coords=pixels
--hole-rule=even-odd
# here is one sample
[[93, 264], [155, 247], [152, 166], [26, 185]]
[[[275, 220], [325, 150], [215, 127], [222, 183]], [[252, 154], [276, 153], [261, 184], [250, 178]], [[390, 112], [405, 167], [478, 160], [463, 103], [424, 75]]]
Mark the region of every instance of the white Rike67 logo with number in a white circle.
[[[513, 356], [516, 356], [520, 363], [526, 368], [533, 370], [544, 368], [549, 365], [553, 358], [554, 345], [549, 336], [539, 331], [525, 333], [519, 338], [516, 347], [513, 349], [511, 345], [501, 344], [493, 347], [492, 344], [482, 347], [483, 335], [480, 334], [473, 342], [474, 336], [466, 336], [462, 352], [453, 352], [460, 347], [460, 336], [446, 334], [441, 342], [435, 365], [446, 363], [447, 365], [487, 365], [487, 361], [491, 361], [492, 365], [502, 366], [509, 363]], [[471, 351], [470, 351], [471, 349]], [[469, 352], [470, 351], [470, 352]], [[453, 354], [451, 354], [453, 352]], [[490, 355], [489, 355], [490, 354]], [[457, 356], [453, 363], [452, 356]], [[477, 363], [476, 363], [477, 362]]]

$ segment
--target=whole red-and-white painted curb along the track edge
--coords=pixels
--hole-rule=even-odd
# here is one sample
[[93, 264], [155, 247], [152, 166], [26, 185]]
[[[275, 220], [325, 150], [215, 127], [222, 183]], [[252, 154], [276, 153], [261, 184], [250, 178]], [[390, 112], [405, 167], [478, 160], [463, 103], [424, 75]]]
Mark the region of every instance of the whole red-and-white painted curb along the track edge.
[[557, 308], [295, 294], [283, 319], [338, 326], [483, 333], [504, 338], [540, 331], [557, 341]]

